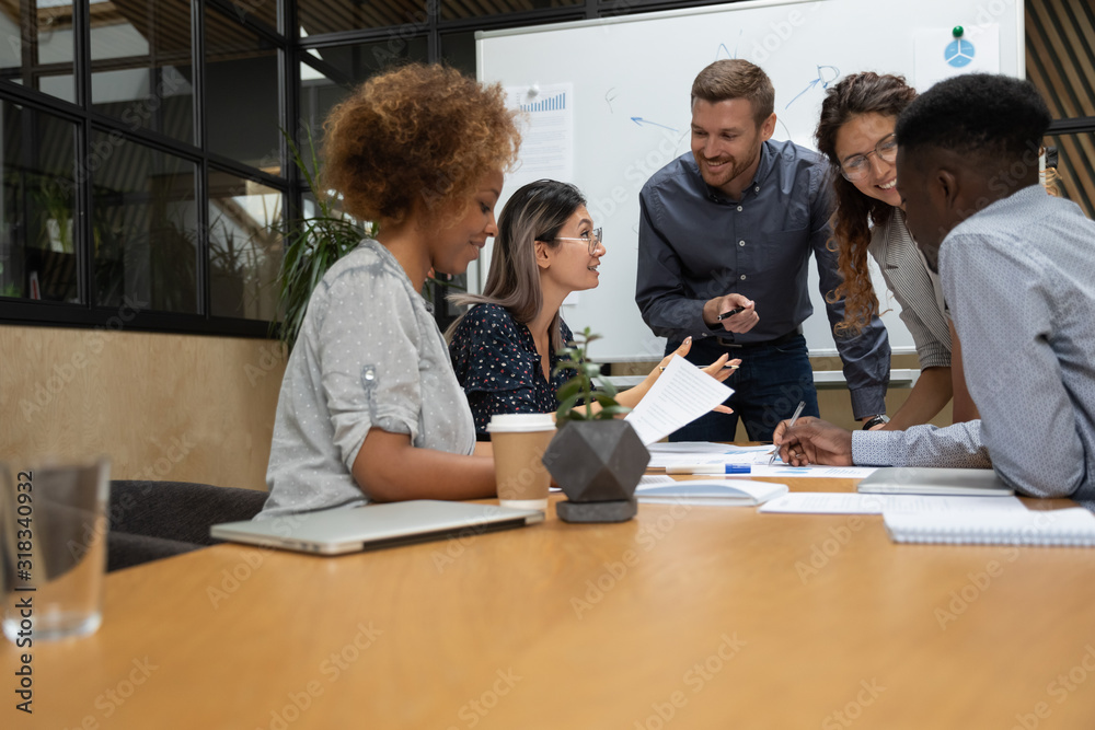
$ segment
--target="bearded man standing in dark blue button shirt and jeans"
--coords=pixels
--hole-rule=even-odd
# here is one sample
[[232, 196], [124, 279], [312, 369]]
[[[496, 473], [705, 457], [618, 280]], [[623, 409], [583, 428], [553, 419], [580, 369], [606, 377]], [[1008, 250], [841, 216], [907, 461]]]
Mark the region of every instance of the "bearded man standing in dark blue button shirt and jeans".
[[[692, 84], [692, 151], [647, 181], [639, 194], [635, 301], [667, 352], [691, 335], [688, 359], [741, 358], [735, 415], [708, 414], [672, 440], [731, 441], [737, 417], [749, 438], [769, 441], [799, 401], [818, 415], [802, 324], [814, 309], [807, 291], [817, 258], [829, 322], [844, 317], [829, 301], [840, 275], [830, 251], [828, 167], [794, 142], [773, 142], [775, 92], [763, 70], [715, 61]], [[731, 312], [737, 312], [730, 314]], [[719, 316], [722, 315], [722, 318]], [[890, 348], [874, 317], [854, 337], [837, 337], [857, 419], [886, 413]]]

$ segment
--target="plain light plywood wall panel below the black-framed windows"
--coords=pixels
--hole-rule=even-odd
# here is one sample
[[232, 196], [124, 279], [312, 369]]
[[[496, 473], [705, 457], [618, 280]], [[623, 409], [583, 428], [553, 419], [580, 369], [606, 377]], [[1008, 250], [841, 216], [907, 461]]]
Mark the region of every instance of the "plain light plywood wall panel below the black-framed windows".
[[0, 326], [0, 460], [265, 489], [284, 372], [262, 339]]

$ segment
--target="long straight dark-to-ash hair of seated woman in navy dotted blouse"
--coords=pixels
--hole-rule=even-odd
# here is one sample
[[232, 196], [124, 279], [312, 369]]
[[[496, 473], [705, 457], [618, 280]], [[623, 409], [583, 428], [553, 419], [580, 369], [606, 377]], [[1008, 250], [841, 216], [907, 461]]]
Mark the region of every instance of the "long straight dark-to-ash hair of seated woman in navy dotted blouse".
[[[560, 242], [555, 240], [570, 216], [586, 205], [581, 192], [569, 183], [554, 179], [538, 179], [525, 185], [506, 201], [498, 217], [498, 235], [494, 239], [491, 270], [482, 294], [456, 294], [449, 300], [460, 304], [499, 304], [514, 318], [528, 324], [535, 318], [543, 306], [543, 291], [540, 288], [540, 268], [537, 266], [535, 242], [543, 241], [550, 248]], [[452, 333], [463, 320], [460, 316], [446, 335]], [[552, 349], [563, 346], [558, 333], [558, 312], [548, 326]]]

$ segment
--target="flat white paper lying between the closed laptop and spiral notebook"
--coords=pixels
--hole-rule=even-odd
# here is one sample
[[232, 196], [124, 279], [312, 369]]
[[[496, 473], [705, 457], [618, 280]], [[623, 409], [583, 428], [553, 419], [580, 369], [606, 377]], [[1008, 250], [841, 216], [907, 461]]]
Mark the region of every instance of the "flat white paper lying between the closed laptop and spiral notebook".
[[773, 499], [759, 511], [798, 514], [881, 514], [884, 511], [924, 514], [969, 510], [1027, 511], [1015, 497], [929, 497], [827, 491], [795, 491]]

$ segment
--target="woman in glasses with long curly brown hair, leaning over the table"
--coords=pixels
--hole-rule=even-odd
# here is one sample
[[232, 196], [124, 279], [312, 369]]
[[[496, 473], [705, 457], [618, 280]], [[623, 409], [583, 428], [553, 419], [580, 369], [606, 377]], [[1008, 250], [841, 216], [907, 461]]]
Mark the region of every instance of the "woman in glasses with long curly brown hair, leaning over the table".
[[[943, 301], [938, 276], [932, 271], [904, 224], [897, 192], [898, 115], [917, 92], [895, 76], [866, 72], [850, 76], [826, 92], [816, 138], [832, 164], [837, 200], [833, 237], [843, 283], [844, 321], [837, 334], [860, 332], [878, 298], [871, 285], [869, 253], [887, 287], [901, 305], [901, 320], [917, 344], [920, 379], [892, 420], [866, 427], [904, 429], [931, 420], [954, 397], [954, 420], [977, 418], [966, 390], [958, 337]], [[865, 428], [866, 428], [865, 427]]]

